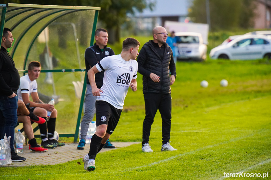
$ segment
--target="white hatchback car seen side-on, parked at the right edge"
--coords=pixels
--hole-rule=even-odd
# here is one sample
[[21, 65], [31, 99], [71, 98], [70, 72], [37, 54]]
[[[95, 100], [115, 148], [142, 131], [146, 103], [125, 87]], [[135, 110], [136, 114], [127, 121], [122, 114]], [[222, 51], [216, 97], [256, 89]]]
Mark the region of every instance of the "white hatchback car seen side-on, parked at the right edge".
[[262, 59], [270, 55], [271, 40], [256, 34], [242, 35], [210, 51], [211, 59]]

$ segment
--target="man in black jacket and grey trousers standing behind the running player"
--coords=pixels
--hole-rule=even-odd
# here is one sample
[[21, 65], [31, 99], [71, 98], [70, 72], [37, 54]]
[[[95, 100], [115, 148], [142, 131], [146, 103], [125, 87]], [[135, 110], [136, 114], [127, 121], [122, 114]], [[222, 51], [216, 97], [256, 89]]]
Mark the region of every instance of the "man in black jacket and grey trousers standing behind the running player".
[[[108, 33], [105, 29], [99, 28], [95, 31], [95, 44], [90, 46], [85, 51], [85, 64], [86, 73], [95, 64], [99, 63], [104, 57], [115, 55], [114, 51], [107, 47]], [[97, 87], [100, 89], [103, 85], [104, 71], [95, 74], [95, 82]], [[80, 141], [77, 149], [84, 149], [87, 131], [89, 123], [92, 121], [95, 114], [95, 101], [97, 97], [92, 95], [91, 85], [87, 75], [87, 91], [85, 97], [85, 111], [81, 122]], [[104, 142], [104, 147], [115, 148], [109, 140]]]

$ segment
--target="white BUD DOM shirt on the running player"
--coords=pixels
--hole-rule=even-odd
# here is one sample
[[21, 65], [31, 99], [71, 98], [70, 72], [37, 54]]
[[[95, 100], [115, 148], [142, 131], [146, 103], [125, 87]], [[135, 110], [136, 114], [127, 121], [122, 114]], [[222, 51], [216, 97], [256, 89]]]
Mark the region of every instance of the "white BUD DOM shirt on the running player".
[[136, 60], [125, 61], [121, 55], [112, 55], [103, 58], [97, 69], [105, 70], [101, 96], [97, 100], [103, 100], [117, 109], [123, 109], [124, 99], [127, 95], [132, 79], [137, 78], [138, 63]]

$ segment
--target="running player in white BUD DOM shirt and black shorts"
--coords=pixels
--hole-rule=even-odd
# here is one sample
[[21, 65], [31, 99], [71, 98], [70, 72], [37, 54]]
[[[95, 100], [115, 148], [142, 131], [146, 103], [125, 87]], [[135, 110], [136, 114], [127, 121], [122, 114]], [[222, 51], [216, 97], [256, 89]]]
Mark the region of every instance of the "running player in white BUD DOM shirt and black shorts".
[[[138, 56], [140, 43], [127, 38], [122, 43], [122, 52], [105, 57], [88, 71], [93, 96], [98, 96], [96, 106], [97, 129], [91, 138], [89, 153], [83, 157], [84, 169], [95, 170], [95, 157], [115, 130], [124, 105], [128, 88], [137, 90]], [[103, 85], [98, 89], [95, 73], [105, 70]]]

